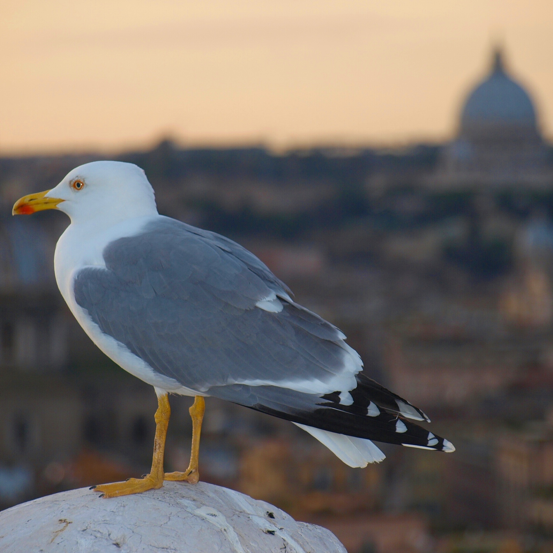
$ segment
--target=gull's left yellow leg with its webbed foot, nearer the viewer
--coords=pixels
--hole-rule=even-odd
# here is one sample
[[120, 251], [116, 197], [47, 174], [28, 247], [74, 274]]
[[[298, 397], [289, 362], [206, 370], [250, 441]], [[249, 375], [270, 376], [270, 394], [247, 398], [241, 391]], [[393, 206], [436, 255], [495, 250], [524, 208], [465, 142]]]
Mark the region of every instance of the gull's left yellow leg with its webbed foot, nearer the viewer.
[[155, 440], [152, 470], [144, 478], [129, 478], [126, 482], [114, 482], [96, 486], [101, 497], [118, 497], [145, 492], [148, 489], [159, 489], [163, 486], [163, 454], [165, 451], [165, 436], [169, 426], [171, 408], [167, 394], [158, 397], [158, 410], [155, 411]]

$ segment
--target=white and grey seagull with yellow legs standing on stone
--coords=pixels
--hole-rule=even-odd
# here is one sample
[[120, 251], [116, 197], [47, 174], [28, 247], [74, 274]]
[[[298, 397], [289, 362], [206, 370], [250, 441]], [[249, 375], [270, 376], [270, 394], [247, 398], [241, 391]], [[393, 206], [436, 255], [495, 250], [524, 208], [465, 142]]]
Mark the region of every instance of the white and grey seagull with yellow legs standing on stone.
[[[358, 353], [330, 322], [236, 242], [159, 215], [137, 165], [95, 161], [53, 189], [24, 196], [13, 215], [56, 209], [70, 225], [56, 244], [56, 282], [85, 332], [109, 358], [154, 387], [152, 469], [96, 486], [102, 497], [197, 483], [205, 397], [286, 419], [346, 465], [384, 460], [374, 441], [451, 452], [411, 421], [430, 419], [362, 373]], [[164, 472], [168, 394], [194, 397], [184, 472]]]

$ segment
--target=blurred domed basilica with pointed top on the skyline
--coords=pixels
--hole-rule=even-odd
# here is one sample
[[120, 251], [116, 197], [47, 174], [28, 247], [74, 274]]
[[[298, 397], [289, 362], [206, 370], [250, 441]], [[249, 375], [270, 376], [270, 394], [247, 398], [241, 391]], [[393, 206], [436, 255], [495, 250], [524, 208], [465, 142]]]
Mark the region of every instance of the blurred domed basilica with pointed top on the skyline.
[[428, 184], [437, 189], [553, 187], [550, 147], [534, 103], [510, 76], [500, 49], [493, 53], [489, 74], [468, 94], [457, 137], [442, 150]]

